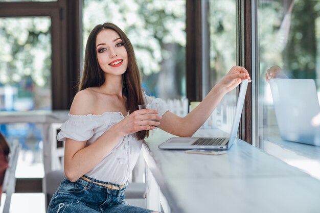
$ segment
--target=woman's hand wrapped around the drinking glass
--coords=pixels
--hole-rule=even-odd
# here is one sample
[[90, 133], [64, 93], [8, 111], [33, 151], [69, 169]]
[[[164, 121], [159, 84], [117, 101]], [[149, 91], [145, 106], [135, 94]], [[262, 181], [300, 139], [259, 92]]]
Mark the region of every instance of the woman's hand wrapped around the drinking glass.
[[132, 134], [143, 130], [152, 130], [160, 125], [161, 116], [157, 115], [155, 109], [140, 109], [125, 117], [121, 122], [116, 124], [124, 135]]

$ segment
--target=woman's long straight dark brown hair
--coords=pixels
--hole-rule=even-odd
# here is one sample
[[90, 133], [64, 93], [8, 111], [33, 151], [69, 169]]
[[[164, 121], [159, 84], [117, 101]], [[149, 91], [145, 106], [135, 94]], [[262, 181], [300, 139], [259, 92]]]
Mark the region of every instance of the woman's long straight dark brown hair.
[[[104, 72], [101, 69], [96, 53], [96, 38], [102, 30], [111, 29], [117, 32], [122, 39], [123, 45], [128, 54], [128, 67], [123, 74], [122, 94], [126, 98], [126, 107], [130, 113], [138, 109], [138, 105], [145, 104], [144, 93], [141, 87], [141, 78], [138, 64], [135, 60], [132, 44], [124, 32], [113, 23], [104, 23], [97, 25], [89, 34], [85, 47], [84, 67], [82, 79], [79, 85], [79, 91], [88, 87], [99, 87], [104, 81]], [[137, 139], [144, 139], [149, 136], [149, 131], [140, 131], [135, 133]]]

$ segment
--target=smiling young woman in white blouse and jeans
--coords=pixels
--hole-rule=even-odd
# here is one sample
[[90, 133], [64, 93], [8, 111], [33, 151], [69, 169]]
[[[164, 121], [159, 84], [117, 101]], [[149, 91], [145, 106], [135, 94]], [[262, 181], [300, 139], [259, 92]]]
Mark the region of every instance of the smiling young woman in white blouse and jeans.
[[[133, 48], [123, 31], [112, 23], [96, 26], [87, 40], [79, 92], [58, 134], [65, 140], [66, 179], [48, 212], [152, 212], [123, 202], [149, 130], [159, 126], [174, 135], [193, 135], [224, 94], [244, 79], [250, 79], [247, 70], [232, 67], [198, 107], [185, 117], [176, 116], [161, 99], [152, 100], [143, 92]], [[158, 104], [157, 110], [138, 109], [151, 102]]]

